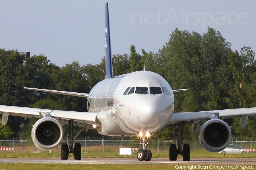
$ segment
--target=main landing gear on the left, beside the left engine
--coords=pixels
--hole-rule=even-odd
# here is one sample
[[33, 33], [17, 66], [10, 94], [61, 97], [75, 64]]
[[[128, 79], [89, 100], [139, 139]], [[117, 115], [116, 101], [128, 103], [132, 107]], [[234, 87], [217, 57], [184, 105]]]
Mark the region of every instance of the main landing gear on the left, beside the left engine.
[[61, 160], [67, 160], [69, 154], [73, 154], [75, 160], [81, 160], [81, 144], [75, 143], [74, 145], [74, 141], [86, 125], [88, 126], [88, 124], [85, 124], [77, 135], [73, 137], [73, 121], [69, 120], [69, 147], [67, 143], [61, 144]]

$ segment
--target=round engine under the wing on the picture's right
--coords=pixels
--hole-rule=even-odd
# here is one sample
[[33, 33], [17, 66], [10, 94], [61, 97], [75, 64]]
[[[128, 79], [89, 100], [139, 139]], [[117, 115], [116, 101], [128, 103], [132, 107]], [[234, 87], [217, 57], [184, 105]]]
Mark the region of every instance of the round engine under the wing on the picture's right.
[[199, 131], [199, 141], [203, 148], [210, 152], [224, 150], [231, 141], [231, 130], [228, 124], [220, 119], [206, 121]]

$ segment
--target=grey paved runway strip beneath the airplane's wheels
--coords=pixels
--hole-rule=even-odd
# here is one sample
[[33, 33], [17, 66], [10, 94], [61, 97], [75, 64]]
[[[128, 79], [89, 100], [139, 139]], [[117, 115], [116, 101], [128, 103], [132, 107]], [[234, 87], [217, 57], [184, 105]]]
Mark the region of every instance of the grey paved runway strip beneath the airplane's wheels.
[[191, 158], [190, 161], [170, 161], [168, 158], [152, 158], [139, 161], [137, 158], [83, 158], [61, 160], [60, 158], [1, 158], [0, 163], [84, 163], [84, 164], [173, 164], [173, 165], [256, 165], [256, 158]]

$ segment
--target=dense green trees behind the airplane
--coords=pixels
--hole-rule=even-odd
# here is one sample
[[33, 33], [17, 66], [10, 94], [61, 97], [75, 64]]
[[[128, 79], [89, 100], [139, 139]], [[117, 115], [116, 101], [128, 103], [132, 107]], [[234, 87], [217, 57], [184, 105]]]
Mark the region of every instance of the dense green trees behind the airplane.
[[[232, 50], [220, 32], [210, 27], [202, 35], [176, 28], [158, 52], [141, 49], [139, 54], [131, 45], [130, 54], [114, 54], [112, 61], [114, 76], [145, 68], [163, 76], [173, 90], [188, 88], [187, 92], [175, 93], [175, 112], [256, 106], [255, 53], [247, 46]], [[81, 66], [74, 61], [58, 67], [44, 55], [25, 58], [15, 50], [0, 49], [0, 104], [87, 111], [85, 98], [29, 91], [23, 87], [89, 93], [104, 79], [104, 70], [104, 58], [95, 65]], [[233, 126], [233, 136], [255, 137], [254, 119], [249, 117], [243, 129], [239, 118], [225, 121]], [[29, 136], [29, 133], [25, 135], [31, 128], [27, 126], [31, 123], [29, 120], [10, 116], [9, 122], [14, 135], [19, 136], [22, 132], [23, 137]], [[20, 127], [23, 127], [22, 131]], [[177, 132], [175, 128], [174, 131]], [[245, 133], [247, 131], [249, 133]], [[172, 134], [163, 129], [155, 137], [164, 140]], [[192, 133], [191, 126], [186, 126], [186, 139], [195, 138], [197, 133]]]

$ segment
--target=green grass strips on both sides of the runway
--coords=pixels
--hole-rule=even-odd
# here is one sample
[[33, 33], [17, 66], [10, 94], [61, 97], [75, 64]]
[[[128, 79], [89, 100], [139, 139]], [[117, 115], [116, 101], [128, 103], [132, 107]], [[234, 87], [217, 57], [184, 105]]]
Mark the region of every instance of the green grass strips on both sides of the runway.
[[[95, 148], [94, 148], [95, 149]], [[82, 158], [136, 158], [137, 151], [134, 151], [132, 155], [119, 155], [119, 152], [116, 151], [115, 148], [107, 149], [105, 152], [93, 152], [94, 150], [88, 149], [87, 153], [82, 153]], [[17, 152], [17, 150], [16, 150]], [[168, 149], [162, 149], [161, 152], [157, 152], [152, 149], [152, 157], [153, 158], [169, 158]], [[181, 157], [180, 155], [178, 157]], [[40, 153], [13, 153], [12, 151], [0, 151], [0, 158], [60, 158], [60, 153], [49, 153], [46, 151], [42, 151]], [[74, 156], [72, 154], [69, 155], [69, 158], [72, 159]], [[208, 152], [204, 149], [191, 149], [191, 158], [223, 158], [223, 154]], [[256, 154], [225, 154], [225, 158], [256, 158]], [[176, 164], [179, 165], [179, 164]], [[111, 169], [111, 170], [135, 170], [135, 169], [147, 169], [147, 170], [162, 170], [162, 169], [177, 169], [174, 165], [167, 164], [40, 164], [40, 163], [0, 163], [0, 169], [12, 169], [12, 170], [29, 170], [29, 169], [42, 169], [42, 170], [63, 170], [63, 169]], [[202, 165], [203, 166], [203, 165]], [[206, 165], [209, 166], [209, 165]], [[191, 169], [191, 168], [188, 168]], [[193, 169], [193, 168], [192, 168]], [[197, 167], [194, 169], [198, 169]], [[208, 168], [210, 169], [210, 168]], [[214, 169], [211, 169], [214, 170]]]

